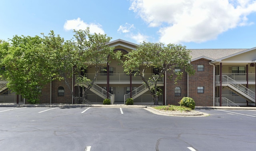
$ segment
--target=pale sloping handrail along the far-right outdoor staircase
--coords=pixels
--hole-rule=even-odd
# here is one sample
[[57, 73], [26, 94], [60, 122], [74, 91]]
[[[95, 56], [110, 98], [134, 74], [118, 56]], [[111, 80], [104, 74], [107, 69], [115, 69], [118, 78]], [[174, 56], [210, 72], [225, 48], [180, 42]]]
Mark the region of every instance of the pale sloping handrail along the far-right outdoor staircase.
[[246, 88], [245, 86], [238, 83], [236, 80], [230, 78], [227, 75], [222, 75], [222, 83], [231, 84], [232, 86], [236, 87], [238, 90], [241, 90], [242, 92], [244, 92], [246, 95], [255, 99], [255, 93], [252, 90]]

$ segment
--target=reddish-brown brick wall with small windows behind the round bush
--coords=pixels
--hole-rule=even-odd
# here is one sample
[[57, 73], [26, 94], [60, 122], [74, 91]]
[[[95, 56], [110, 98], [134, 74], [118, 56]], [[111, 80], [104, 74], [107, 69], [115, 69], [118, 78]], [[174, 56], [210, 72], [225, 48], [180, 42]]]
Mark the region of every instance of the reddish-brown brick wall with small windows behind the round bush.
[[[174, 84], [175, 76], [171, 79], [166, 79], [167, 105], [179, 105], [178, 102], [183, 97], [189, 96], [190, 98], [194, 99], [196, 106], [213, 106], [213, 66], [210, 65], [209, 61], [205, 59], [198, 59], [191, 62], [191, 64], [196, 72], [195, 75], [190, 75], [189, 79], [184, 71], [182, 80], [178, 80], [177, 84]], [[197, 71], [197, 65], [204, 65], [204, 71]], [[181, 88], [181, 96], [174, 95], [174, 89], [176, 86]], [[197, 93], [198, 86], [204, 86], [204, 93]]]

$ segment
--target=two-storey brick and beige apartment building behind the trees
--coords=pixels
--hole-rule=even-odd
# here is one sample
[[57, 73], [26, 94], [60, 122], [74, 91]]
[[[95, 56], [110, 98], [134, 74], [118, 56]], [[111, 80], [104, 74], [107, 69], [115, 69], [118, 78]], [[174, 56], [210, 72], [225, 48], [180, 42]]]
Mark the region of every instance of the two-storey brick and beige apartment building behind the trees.
[[[136, 44], [117, 39], [108, 43], [114, 51], [127, 54], [136, 50]], [[184, 96], [194, 99], [196, 106], [256, 106], [256, 47], [252, 49], [190, 49], [191, 65], [195, 74], [188, 76], [184, 72], [182, 80], [174, 84], [166, 74], [158, 81], [163, 90], [159, 96], [161, 105], [178, 105]], [[140, 76], [126, 75], [124, 68], [118, 62], [111, 60], [109, 72], [107, 64], [102, 69], [83, 103], [102, 104], [104, 98], [111, 98], [114, 104], [124, 104], [126, 98], [132, 97], [134, 104], [154, 104], [152, 97]], [[182, 71], [182, 69], [175, 69]], [[94, 78], [94, 65], [80, 75]], [[152, 68], [146, 76], [157, 74]], [[54, 80], [42, 89], [40, 103], [74, 104], [78, 100], [78, 86], [74, 75], [69, 79], [75, 98], [64, 81]], [[20, 95], [11, 93], [6, 88], [7, 81], [0, 81], [0, 102], [26, 103]], [[106, 88], [109, 88], [106, 90]], [[131, 90], [132, 88], [132, 90]]]

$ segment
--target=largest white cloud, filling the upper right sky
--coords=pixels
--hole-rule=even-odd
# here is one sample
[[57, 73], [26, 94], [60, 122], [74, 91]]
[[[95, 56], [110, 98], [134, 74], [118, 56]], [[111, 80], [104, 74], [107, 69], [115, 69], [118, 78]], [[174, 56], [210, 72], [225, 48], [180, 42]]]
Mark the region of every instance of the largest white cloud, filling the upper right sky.
[[204, 42], [242, 25], [256, 12], [256, 0], [130, 0], [130, 10], [150, 27], [159, 27], [163, 43]]

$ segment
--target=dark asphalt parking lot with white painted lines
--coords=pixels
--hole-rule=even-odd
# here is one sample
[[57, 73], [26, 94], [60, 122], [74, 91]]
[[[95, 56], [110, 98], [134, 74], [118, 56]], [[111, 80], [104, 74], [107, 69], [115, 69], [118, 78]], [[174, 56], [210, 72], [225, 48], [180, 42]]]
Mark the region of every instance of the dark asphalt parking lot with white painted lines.
[[145, 108], [0, 108], [3, 151], [252, 151], [256, 110], [161, 116]]

